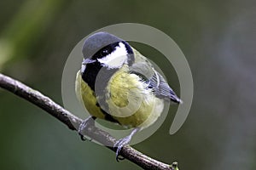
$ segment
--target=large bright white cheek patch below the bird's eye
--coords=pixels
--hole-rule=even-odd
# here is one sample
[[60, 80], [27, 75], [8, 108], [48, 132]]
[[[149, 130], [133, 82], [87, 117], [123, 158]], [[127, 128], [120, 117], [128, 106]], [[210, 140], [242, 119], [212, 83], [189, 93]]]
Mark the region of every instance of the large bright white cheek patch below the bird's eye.
[[117, 46], [111, 54], [97, 60], [108, 68], [120, 68], [122, 65], [127, 63], [127, 51], [125, 44], [123, 42], [119, 42], [119, 46]]

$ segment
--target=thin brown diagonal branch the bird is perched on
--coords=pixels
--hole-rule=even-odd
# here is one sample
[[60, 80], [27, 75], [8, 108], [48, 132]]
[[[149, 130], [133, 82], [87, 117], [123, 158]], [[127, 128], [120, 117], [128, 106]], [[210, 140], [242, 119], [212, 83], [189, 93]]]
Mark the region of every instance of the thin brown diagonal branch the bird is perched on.
[[[69, 111], [65, 110], [61, 105], [57, 105], [52, 99], [46, 97], [44, 94], [29, 88], [25, 84], [16, 81], [11, 77], [4, 76], [0, 73], [0, 88], [4, 88], [9, 92], [20, 96], [20, 98], [26, 99], [34, 105], [37, 105], [44, 111], [47, 111], [51, 116], [55, 116], [59, 121], [67, 125], [71, 130], [77, 130], [80, 123], [83, 121], [79, 117], [74, 116]], [[86, 129], [86, 136], [96, 140], [101, 144], [107, 144], [108, 149], [116, 151], [116, 148], [110, 147], [116, 142], [109, 133], [102, 131], [98, 127], [88, 127]], [[125, 157], [127, 160], [136, 163], [138, 166], [144, 169], [155, 169], [155, 170], [176, 170], [177, 162], [173, 162], [172, 165], [156, 161], [151, 157], [145, 156], [143, 153], [131, 148], [126, 145], [120, 151], [120, 156]]]

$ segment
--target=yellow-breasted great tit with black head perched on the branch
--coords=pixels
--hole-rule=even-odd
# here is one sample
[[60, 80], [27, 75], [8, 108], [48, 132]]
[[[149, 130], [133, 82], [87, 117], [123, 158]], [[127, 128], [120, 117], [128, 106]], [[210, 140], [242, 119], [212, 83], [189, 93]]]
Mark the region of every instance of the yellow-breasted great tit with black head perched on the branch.
[[164, 77], [128, 42], [108, 32], [97, 32], [84, 41], [84, 59], [76, 77], [76, 94], [90, 117], [79, 134], [96, 118], [133, 128], [119, 139], [116, 159], [132, 136], [152, 125], [164, 108], [164, 100], [181, 103]]

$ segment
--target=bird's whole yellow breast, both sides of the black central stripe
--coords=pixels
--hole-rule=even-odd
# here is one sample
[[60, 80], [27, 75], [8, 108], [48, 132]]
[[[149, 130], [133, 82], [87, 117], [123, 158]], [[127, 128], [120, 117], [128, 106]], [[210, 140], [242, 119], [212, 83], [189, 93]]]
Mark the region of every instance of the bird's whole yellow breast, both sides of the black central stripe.
[[[90, 115], [105, 119], [100, 107], [96, 105], [96, 96], [78, 72], [76, 91]], [[148, 127], [160, 116], [164, 101], [154, 96], [147, 85], [135, 74], [128, 72], [124, 65], [108, 82], [106, 102], [108, 113], [120, 125], [125, 127]], [[80, 90], [79, 90], [80, 89]]]

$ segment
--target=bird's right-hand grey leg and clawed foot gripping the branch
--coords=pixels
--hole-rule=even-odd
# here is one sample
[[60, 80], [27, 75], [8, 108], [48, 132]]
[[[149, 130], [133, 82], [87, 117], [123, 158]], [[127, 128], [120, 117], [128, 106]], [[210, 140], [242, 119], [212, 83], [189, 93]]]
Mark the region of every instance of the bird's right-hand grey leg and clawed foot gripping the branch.
[[116, 161], [119, 160], [124, 160], [125, 158], [123, 157], [119, 157], [119, 153], [122, 150], [122, 148], [125, 146], [125, 144], [129, 144], [131, 141], [132, 136], [137, 133], [141, 128], [140, 127], [136, 127], [131, 131], [131, 134], [129, 134], [128, 136], [126, 136], [123, 139], [119, 139], [115, 144], [113, 144], [114, 148], [117, 148], [116, 153], [115, 153], [115, 159]]

